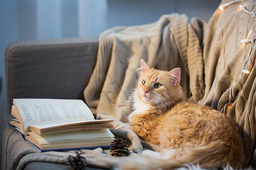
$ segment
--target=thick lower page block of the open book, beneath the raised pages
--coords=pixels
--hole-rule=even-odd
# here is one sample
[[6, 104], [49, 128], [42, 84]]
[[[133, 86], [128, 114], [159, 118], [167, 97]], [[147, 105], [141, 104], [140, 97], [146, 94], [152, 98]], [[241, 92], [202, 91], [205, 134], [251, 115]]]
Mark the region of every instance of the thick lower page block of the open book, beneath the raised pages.
[[54, 135], [38, 135], [28, 132], [26, 140], [39, 149], [67, 149], [109, 146], [114, 140], [110, 130], [82, 130], [75, 132], [57, 133]]

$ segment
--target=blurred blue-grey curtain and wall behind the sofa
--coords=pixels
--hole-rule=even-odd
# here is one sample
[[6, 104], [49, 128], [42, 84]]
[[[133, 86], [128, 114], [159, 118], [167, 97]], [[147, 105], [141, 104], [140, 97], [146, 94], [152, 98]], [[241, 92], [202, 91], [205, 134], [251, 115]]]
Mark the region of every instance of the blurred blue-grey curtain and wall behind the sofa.
[[0, 118], [7, 114], [4, 52], [18, 40], [98, 37], [114, 26], [185, 13], [208, 22], [220, 0], [0, 0]]

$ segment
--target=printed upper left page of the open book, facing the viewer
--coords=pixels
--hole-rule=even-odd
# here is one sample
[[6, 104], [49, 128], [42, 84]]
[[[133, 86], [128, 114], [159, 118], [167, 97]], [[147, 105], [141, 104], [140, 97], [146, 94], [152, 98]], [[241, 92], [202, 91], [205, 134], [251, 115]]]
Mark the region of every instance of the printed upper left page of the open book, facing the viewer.
[[16, 98], [14, 103], [21, 114], [25, 130], [33, 125], [95, 120], [90, 108], [82, 100]]

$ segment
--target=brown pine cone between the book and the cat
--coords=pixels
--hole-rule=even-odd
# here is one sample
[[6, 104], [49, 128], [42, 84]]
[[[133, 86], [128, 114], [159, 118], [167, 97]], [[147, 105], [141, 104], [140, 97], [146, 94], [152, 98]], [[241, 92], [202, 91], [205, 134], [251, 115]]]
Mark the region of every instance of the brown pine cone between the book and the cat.
[[125, 142], [126, 140], [124, 140], [123, 138], [115, 138], [115, 140], [113, 140], [110, 145], [111, 155], [114, 157], [127, 156], [129, 154], [129, 145], [127, 145]]

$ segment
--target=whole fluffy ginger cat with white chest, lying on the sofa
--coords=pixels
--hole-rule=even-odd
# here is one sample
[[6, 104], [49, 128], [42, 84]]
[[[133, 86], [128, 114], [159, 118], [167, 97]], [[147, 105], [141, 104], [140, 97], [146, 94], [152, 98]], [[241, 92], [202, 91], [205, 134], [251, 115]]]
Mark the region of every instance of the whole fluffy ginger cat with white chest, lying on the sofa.
[[[161, 152], [146, 152], [126, 161], [123, 169], [176, 169], [183, 164], [202, 168], [240, 166], [242, 142], [233, 121], [208, 106], [183, 100], [179, 68], [164, 72], [141, 61], [134, 93], [132, 130]], [[136, 163], [135, 163], [135, 162]]]

